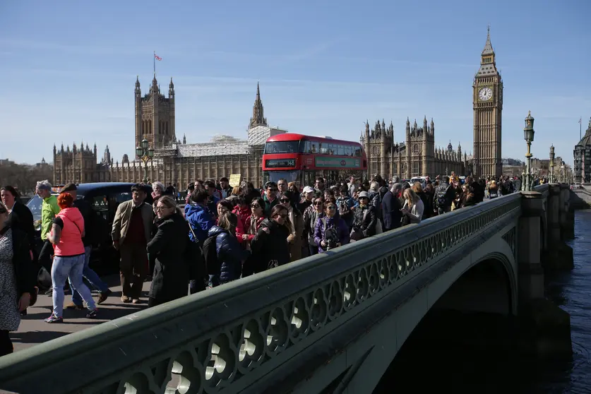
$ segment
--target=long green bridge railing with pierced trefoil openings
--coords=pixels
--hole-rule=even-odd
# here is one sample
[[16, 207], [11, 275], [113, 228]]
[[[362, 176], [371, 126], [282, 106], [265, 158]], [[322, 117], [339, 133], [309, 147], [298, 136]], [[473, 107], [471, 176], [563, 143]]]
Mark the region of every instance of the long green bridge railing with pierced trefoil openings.
[[298, 354], [520, 203], [514, 193], [455, 210], [0, 357], [0, 388], [170, 394], [174, 376], [180, 393], [263, 393], [273, 372], [293, 374]]

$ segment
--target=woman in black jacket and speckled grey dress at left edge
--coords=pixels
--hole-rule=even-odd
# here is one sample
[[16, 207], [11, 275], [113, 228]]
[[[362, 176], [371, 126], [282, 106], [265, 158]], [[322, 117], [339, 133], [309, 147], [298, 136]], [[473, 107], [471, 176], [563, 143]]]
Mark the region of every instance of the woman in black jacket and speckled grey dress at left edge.
[[13, 227], [8, 215], [0, 203], [0, 357], [13, 352], [8, 333], [18, 330], [20, 312], [37, 299], [28, 236]]

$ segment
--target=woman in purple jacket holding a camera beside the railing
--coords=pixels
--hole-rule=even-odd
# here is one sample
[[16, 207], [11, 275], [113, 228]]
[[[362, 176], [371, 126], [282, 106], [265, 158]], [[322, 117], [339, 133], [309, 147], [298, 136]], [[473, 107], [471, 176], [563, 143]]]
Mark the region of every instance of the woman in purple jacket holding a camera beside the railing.
[[349, 227], [337, 215], [337, 205], [333, 201], [324, 203], [324, 217], [316, 220], [314, 241], [318, 245], [318, 253], [349, 243]]

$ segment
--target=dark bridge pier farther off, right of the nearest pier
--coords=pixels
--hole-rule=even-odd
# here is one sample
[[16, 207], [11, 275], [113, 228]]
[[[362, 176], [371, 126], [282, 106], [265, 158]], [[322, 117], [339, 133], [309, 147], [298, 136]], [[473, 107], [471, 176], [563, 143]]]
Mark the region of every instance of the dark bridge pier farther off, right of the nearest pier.
[[[547, 250], [542, 255], [542, 265], [546, 270], [572, 270], [574, 268], [573, 249], [564, 243], [567, 225], [568, 193], [570, 190], [561, 184], [549, 185], [547, 203]], [[564, 185], [568, 186], [568, 185]]]

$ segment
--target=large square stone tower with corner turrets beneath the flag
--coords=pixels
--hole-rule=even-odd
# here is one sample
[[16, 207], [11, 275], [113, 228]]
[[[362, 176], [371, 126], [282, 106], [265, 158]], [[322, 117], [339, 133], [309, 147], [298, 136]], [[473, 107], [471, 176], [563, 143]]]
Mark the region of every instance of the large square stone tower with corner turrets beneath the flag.
[[150, 148], [163, 148], [177, 141], [174, 132], [174, 84], [170, 78], [168, 98], [160, 93], [154, 76], [150, 90], [143, 97], [136, 78], [136, 146], [145, 138]]

